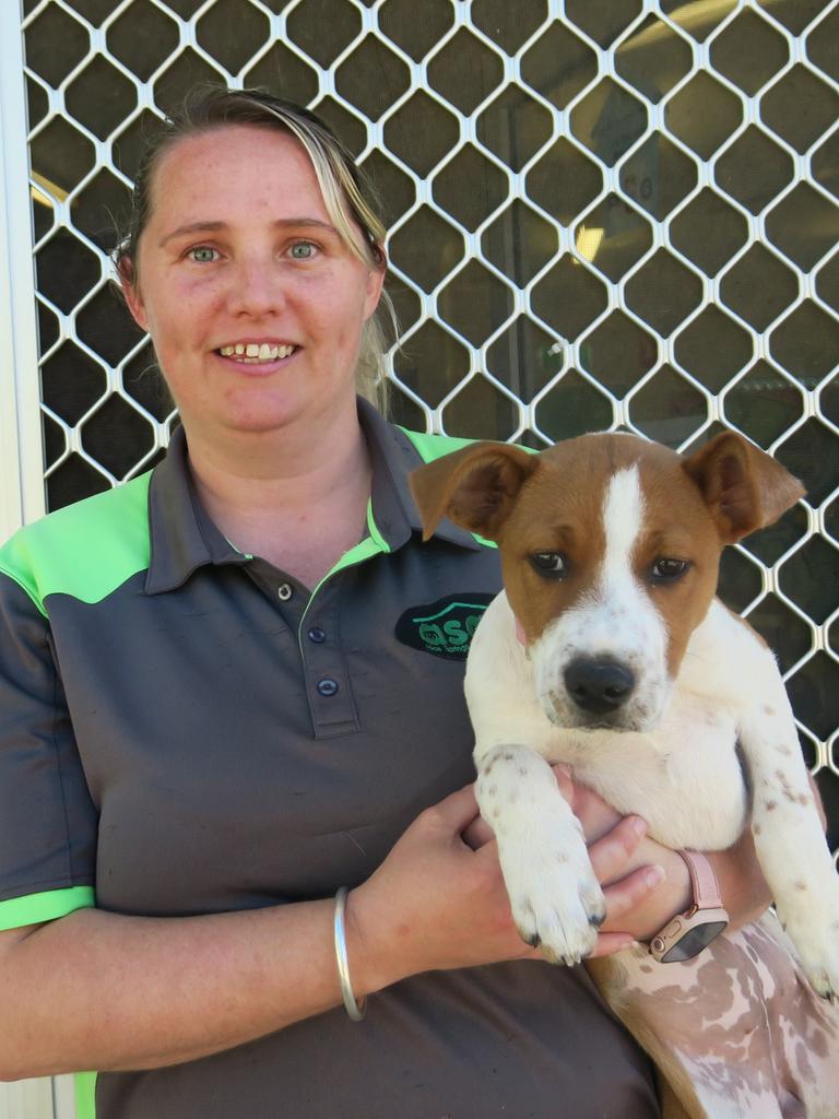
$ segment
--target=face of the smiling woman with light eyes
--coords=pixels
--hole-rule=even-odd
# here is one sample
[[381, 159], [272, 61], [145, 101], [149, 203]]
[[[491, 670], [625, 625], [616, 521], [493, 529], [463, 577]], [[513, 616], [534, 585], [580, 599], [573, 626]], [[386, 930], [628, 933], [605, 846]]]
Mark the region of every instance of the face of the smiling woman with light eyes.
[[151, 200], [124, 289], [188, 434], [317, 426], [351, 406], [383, 273], [332, 226], [303, 148], [248, 125], [186, 138]]

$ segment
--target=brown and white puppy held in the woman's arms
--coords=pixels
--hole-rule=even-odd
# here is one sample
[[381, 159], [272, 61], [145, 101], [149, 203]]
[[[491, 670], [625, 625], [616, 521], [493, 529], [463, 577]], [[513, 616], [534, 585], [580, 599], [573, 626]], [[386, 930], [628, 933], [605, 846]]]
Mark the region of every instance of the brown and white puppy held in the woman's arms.
[[[550, 770], [566, 762], [673, 848], [728, 847], [751, 808], [781, 922], [812, 987], [833, 998], [839, 878], [790, 704], [770, 650], [715, 599], [723, 547], [776, 520], [803, 496], [800, 483], [735, 434], [687, 459], [600, 434], [539, 455], [478, 443], [420, 468], [412, 488], [426, 536], [449, 517], [500, 549], [505, 591], [473, 638], [465, 692], [478, 800], [522, 938], [547, 959], [574, 963], [592, 951], [604, 916], [579, 826]], [[682, 966], [652, 968], [642, 950], [616, 960], [598, 963], [598, 982], [619, 1013], [628, 985], [649, 989], [662, 972], [678, 982], [668, 968]], [[835, 1022], [828, 1014], [818, 1025]], [[643, 1024], [635, 1032], [656, 1050]], [[680, 1094], [691, 1115], [782, 1113], [754, 1093], [757, 1110], [732, 1104], [730, 1084], [711, 1083], [698, 1102], [696, 1070], [688, 1078], [694, 1085]], [[808, 1113], [839, 1113], [819, 1106]]]

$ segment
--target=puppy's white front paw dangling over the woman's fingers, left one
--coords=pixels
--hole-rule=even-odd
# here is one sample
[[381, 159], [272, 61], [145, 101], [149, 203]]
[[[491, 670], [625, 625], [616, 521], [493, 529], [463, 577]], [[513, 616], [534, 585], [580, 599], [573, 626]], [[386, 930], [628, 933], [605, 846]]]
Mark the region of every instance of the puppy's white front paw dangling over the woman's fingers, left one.
[[540, 847], [506, 871], [507, 890], [521, 939], [552, 963], [578, 963], [591, 955], [606, 916], [603, 891], [587, 857]]

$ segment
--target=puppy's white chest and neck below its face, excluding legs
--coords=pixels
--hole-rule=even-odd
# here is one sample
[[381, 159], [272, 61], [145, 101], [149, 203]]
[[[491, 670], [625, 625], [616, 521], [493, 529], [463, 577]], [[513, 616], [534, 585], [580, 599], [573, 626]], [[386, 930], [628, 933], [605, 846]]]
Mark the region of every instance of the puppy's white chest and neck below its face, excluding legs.
[[515, 636], [505, 594], [475, 632], [466, 699], [477, 758], [522, 743], [566, 762], [620, 812], [635, 812], [671, 847], [722, 849], [741, 834], [746, 792], [736, 751], [745, 706], [756, 700], [750, 664], [754, 636], [714, 604], [694, 632], [662, 716], [645, 732], [581, 730], [548, 717], [534, 659]]

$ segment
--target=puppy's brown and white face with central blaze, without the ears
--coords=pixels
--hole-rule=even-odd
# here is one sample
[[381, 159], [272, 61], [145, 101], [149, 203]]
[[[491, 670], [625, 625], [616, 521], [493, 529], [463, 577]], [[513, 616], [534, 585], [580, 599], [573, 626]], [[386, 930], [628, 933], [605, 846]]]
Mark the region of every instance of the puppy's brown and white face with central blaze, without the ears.
[[499, 546], [548, 717], [652, 728], [720, 552], [679, 457], [629, 435], [560, 444], [540, 457]]

